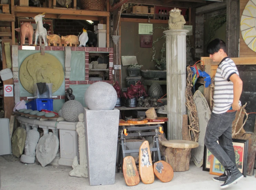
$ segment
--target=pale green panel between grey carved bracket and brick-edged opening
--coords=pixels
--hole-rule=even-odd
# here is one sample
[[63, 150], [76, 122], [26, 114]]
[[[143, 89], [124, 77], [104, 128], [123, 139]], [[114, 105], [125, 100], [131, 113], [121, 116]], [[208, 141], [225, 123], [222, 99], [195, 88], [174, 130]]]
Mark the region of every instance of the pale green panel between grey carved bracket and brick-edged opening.
[[70, 63], [70, 81], [85, 80], [85, 52], [72, 51]]

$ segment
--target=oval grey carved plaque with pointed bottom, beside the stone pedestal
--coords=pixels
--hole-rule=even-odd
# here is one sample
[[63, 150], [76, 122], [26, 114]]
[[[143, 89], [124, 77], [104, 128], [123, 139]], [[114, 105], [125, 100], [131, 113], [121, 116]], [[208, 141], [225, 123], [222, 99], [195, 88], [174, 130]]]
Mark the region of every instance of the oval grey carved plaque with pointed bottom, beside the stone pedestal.
[[39, 139], [36, 147], [36, 158], [42, 167], [45, 167], [55, 159], [58, 148], [59, 139], [52, 132], [44, 134]]

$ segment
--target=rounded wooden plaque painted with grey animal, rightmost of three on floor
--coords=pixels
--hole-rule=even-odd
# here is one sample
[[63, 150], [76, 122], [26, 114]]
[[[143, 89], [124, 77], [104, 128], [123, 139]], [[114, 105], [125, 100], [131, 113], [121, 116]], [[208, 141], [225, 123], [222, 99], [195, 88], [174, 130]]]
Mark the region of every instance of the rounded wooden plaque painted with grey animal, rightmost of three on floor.
[[173, 169], [171, 165], [162, 160], [154, 163], [154, 173], [162, 182], [169, 182], [173, 178]]

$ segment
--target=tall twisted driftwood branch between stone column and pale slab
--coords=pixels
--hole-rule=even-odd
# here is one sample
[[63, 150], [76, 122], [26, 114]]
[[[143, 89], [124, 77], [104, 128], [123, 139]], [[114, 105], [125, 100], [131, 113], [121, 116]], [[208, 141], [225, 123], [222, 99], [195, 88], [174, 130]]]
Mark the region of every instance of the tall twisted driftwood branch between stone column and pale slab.
[[[192, 71], [190, 67], [187, 67], [188, 71], [188, 77], [187, 77], [187, 88], [186, 88], [186, 106], [188, 110], [190, 111], [189, 114], [189, 135], [190, 140], [198, 142], [199, 138], [199, 119], [198, 119], [198, 113], [197, 113], [197, 107], [193, 100], [193, 94], [192, 94]], [[192, 136], [191, 136], [192, 132]]]

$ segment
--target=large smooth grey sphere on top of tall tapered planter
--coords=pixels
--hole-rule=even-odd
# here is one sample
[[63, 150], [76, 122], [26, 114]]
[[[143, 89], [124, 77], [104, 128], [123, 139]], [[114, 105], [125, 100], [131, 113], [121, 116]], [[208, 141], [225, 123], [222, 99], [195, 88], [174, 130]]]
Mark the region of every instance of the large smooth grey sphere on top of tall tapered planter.
[[111, 84], [95, 82], [85, 91], [84, 101], [90, 110], [113, 110], [117, 93]]

